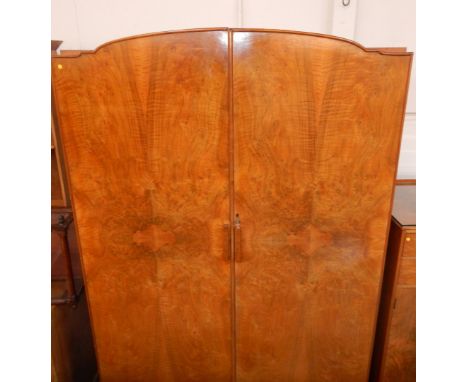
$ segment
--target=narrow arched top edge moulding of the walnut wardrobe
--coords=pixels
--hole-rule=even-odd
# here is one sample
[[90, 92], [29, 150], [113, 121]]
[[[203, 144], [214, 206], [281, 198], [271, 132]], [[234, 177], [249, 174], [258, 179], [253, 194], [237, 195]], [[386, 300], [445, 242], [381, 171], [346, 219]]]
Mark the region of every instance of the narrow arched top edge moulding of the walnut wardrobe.
[[363, 50], [364, 52], [367, 53], [377, 53], [381, 54], [384, 56], [412, 56], [413, 52], [391, 52], [391, 51], [385, 51], [383, 49], [386, 48], [366, 48], [365, 46], [361, 45], [360, 43], [349, 40], [343, 37], [338, 37], [338, 36], [333, 36], [329, 34], [323, 34], [323, 33], [315, 33], [315, 32], [303, 32], [303, 31], [296, 31], [296, 30], [286, 30], [286, 29], [264, 29], [264, 28], [225, 28], [225, 27], [219, 27], [219, 28], [194, 28], [194, 29], [179, 29], [179, 30], [169, 30], [169, 31], [162, 31], [162, 32], [152, 32], [152, 33], [144, 33], [144, 34], [138, 34], [138, 35], [133, 35], [133, 36], [127, 36], [127, 37], [122, 37], [118, 38], [115, 40], [111, 40], [108, 42], [105, 42], [101, 45], [99, 45], [96, 49], [94, 50], [76, 50], [75, 51], [70, 51], [66, 55], [60, 55], [60, 54], [54, 54], [52, 58], [77, 58], [81, 57], [83, 55], [88, 55], [88, 54], [95, 54], [97, 53], [100, 49], [112, 45], [115, 43], [123, 42], [123, 41], [128, 41], [128, 40], [134, 40], [138, 38], [145, 38], [145, 37], [152, 37], [152, 36], [158, 36], [158, 35], [167, 35], [167, 34], [175, 34], [175, 33], [194, 33], [194, 32], [258, 32], [258, 33], [284, 33], [284, 34], [296, 34], [296, 35], [305, 35], [305, 36], [314, 36], [314, 37], [322, 37], [322, 38], [327, 38], [331, 40], [337, 40], [341, 41], [347, 44], [354, 45], [358, 47], [359, 49]]

